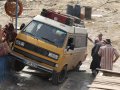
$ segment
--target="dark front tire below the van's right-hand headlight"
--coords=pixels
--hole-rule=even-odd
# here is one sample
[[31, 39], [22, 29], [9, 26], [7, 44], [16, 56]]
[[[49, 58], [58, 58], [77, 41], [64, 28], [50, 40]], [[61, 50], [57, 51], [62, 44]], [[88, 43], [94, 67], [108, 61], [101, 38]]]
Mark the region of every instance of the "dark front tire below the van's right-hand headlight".
[[52, 84], [58, 85], [60, 83], [63, 83], [67, 77], [67, 66], [64, 66], [63, 70], [59, 73], [56, 71], [53, 72], [52, 75]]

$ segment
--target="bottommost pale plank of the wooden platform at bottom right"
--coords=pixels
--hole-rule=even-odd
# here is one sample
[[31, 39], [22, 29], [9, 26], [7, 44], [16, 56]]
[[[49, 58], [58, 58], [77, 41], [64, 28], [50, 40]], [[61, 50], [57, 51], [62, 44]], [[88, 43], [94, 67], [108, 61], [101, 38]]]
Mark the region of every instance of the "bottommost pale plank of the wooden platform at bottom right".
[[109, 86], [109, 85], [100, 85], [100, 84], [92, 84], [88, 85], [89, 88], [97, 88], [97, 89], [107, 89], [107, 90], [120, 90], [119, 87]]

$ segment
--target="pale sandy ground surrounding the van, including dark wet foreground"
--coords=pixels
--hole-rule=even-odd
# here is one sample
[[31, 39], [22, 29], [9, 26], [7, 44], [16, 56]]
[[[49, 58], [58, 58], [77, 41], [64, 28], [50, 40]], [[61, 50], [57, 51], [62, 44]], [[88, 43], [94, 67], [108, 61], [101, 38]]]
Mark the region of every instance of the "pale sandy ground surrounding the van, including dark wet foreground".
[[[34, 2], [33, 2], [34, 1]], [[4, 1], [0, 1], [0, 24], [3, 26], [10, 21], [5, 14]], [[110, 38], [113, 46], [120, 52], [120, 0], [23, 0], [24, 11], [19, 17], [18, 26], [24, 21], [29, 22], [32, 17], [39, 14], [43, 8], [53, 9], [65, 13], [67, 4], [80, 4], [92, 7], [92, 20], [85, 20], [89, 37], [93, 40], [98, 33], [103, 33], [104, 38]], [[15, 79], [7, 85], [1, 85], [3, 90], [88, 90], [86, 87], [93, 80], [89, 65], [91, 62], [90, 51], [93, 44], [88, 41], [88, 57], [82, 69], [86, 72], [70, 72], [65, 83], [53, 86], [49, 80], [38, 77], [39, 74], [20, 72], [15, 74]], [[120, 59], [114, 64], [114, 70], [119, 71]], [[26, 70], [26, 69], [25, 69]], [[1, 89], [0, 89], [1, 90]]]

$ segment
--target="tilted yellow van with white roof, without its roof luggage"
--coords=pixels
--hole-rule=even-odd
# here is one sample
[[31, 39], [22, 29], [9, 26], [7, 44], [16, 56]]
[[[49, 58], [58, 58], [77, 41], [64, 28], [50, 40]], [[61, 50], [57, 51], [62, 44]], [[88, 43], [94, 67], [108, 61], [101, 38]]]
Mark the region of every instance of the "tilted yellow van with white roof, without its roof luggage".
[[[53, 84], [63, 82], [67, 71], [78, 69], [87, 55], [87, 30], [56, 19], [34, 17], [17, 35], [11, 53], [24, 65], [51, 73]], [[24, 65], [17, 65], [17, 70]]]

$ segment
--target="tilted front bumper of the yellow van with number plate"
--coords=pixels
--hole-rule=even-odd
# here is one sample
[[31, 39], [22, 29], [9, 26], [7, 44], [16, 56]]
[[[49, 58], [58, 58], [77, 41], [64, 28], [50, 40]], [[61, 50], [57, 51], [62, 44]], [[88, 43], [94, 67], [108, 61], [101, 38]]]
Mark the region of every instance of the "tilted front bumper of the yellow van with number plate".
[[27, 60], [25, 58], [22, 58], [14, 53], [10, 53], [10, 56], [13, 58], [13, 59], [16, 59], [16, 60], [19, 60], [20, 62], [24, 63], [25, 65], [28, 65], [28, 66], [31, 66], [31, 67], [34, 67], [34, 68], [38, 68], [40, 70], [43, 70], [43, 71], [46, 71], [46, 72], [49, 72], [49, 73], [53, 73], [53, 69], [51, 68], [47, 68], [47, 67], [44, 67], [42, 65], [39, 65], [33, 61], [30, 61], [30, 60]]

